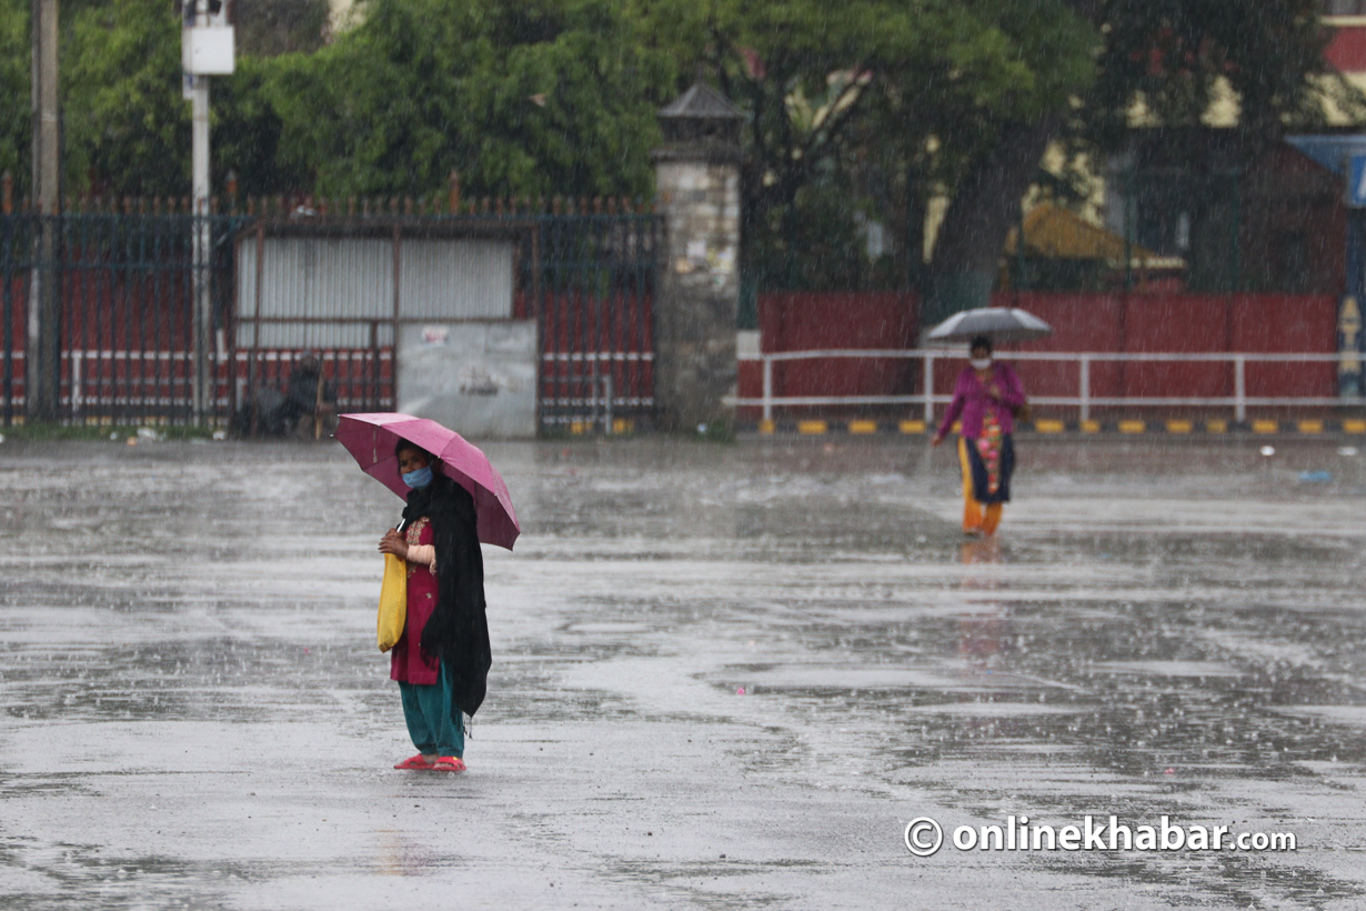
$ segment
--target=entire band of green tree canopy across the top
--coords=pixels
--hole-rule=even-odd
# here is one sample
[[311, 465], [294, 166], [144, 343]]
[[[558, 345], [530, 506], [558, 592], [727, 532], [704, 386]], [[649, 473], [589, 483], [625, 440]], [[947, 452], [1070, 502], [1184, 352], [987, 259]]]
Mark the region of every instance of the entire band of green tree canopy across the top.
[[[333, 36], [320, 0], [285, 5], [239, 8], [255, 37], [212, 82], [216, 186], [423, 194], [456, 169], [477, 194], [650, 195], [656, 109], [703, 79], [749, 115], [744, 262], [770, 285], [979, 298], [1050, 143], [1117, 150], [1218, 105], [1262, 139], [1321, 123], [1325, 98], [1366, 113], [1324, 61], [1318, 0], [359, 0]], [[27, 8], [0, 0], [0, 167], [20, 187]], [[183, 195], [175, 11], [63, 16], [67, 193]], [[895, 260], [869, 261], [874, 228]]]

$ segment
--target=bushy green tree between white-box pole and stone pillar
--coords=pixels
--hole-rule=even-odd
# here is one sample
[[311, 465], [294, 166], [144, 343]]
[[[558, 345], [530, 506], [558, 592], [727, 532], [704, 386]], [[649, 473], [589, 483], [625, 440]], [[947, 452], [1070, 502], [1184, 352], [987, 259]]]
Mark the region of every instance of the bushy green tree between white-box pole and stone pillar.
[[280, 160], [325, 195], [649, 195], [667, 61], [611, 0], [369, 0], [266, 92]]

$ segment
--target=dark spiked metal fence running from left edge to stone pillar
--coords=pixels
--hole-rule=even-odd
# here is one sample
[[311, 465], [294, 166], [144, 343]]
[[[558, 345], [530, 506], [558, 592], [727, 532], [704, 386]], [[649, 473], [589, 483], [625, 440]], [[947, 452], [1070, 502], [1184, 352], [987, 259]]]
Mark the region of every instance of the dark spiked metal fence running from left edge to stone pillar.
[[[321, 354], [339, 408], [395, 407], [396, 291], [392, 316], [382, 318], [333, 313], [329, 300], [296, 317], [240, 311], [242, 283], [253, 280], [238, 275], [240, 246], [281, 225], [396, 239], [514, 238], [511, 317], [537, 326], [541, 428], [649, 425], [663, 220], [646, 206], [452, 197], [417, 206], [253, 199], [245, 208], [195, 217], [184, 201], [85, 201], [59, 216], [0, 214], [5, 425], [36, 412], [44, 382], [52, 393], [42, 417], [63, 423], [225, 425], [262, 388], [283, 389], [303, 350]], [[206, 257], [197, 254], [201, 238]], [[37, 299], [44, 281], [55, 288], [46, 306]], [[320, 332], [307, 343], [273, 340], [272, 326], [287, 321]], [[56, 354], [36, 356], [34, 331], [34, 339], [56, 333]], [[333, 339], [337, 331], [346, 337]]]

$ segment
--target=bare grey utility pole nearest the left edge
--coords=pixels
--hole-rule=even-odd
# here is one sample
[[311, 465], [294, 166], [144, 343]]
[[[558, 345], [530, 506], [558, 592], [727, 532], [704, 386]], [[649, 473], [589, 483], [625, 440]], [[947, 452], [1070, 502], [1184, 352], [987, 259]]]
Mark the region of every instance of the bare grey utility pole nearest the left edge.
[[33, 0], [33, 198], [38, 236], [29, 285], [29, 344], [25, 400], [40, 421], [55, 419], [60, 403], [60, 276], [56, 264], [61, 199], [61, 120], [57, 108], [57, 0]]

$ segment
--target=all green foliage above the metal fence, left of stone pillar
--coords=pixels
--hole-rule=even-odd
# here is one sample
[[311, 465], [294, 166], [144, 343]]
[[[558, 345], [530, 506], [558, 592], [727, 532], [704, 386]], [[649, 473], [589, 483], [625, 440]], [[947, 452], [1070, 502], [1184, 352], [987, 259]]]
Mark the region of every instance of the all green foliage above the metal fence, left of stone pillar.
[[[261, 49], [313, 34], [321, 7], [295, 5], [292, 37]], [[615, 0], [369, 0], [317, 52], [243, 53], [212, 79], [216, 187], [234, 169], [243, 193], [426, 194], [459, 169], [471, 194], [652, 195], [672, 70]], [[72, 0], [63, 19], [66, 193], [187, 194], [173, 7]], [[261, 44], [250, 27], [243, 51]], [[0, 0], [0, 168], [20, 188], [27, 48], [27, 1]]]

